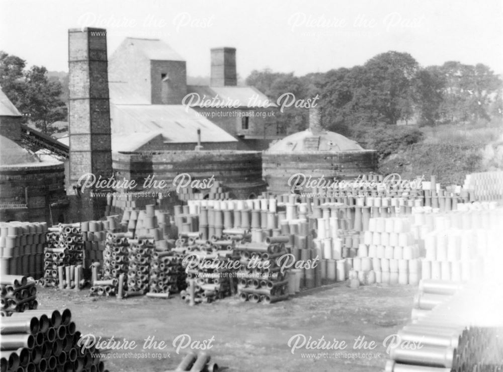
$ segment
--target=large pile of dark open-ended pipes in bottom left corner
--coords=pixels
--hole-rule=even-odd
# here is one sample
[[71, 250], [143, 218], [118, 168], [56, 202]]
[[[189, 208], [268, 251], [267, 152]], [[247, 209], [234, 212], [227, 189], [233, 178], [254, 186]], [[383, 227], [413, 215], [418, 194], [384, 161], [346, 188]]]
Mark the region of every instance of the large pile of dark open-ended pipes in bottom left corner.
[[94, 347], [79, 343], [68, 309], [29, 310], [0, 318], [2, 371], [100, 370], [103, 361]]

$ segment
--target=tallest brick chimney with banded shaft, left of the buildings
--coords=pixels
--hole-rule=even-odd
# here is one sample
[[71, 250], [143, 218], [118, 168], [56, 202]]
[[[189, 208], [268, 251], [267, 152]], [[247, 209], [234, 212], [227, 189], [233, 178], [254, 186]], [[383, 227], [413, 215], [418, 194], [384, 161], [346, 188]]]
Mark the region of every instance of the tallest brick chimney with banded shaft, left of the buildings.
[[[105, 29], [84, 28], [68, 30], [69, 67], [69, 137], [70, 159], [67, 194], [80, 176], [94, 173], [108, 178], [112, 175], [110, 102], [108, 92], [107, 34]], [[99, 218], [95, 208], [82, 218]]]

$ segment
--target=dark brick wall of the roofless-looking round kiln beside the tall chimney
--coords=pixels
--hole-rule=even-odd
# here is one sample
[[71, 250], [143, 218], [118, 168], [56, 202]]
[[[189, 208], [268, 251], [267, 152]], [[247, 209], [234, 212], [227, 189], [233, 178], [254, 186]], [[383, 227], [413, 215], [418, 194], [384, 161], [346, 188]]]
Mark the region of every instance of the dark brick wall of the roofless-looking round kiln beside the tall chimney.
[[113, 153], [118, 179], [134, 179], [141, 189], [144, 179], [154, 175], [174, 189], [173, 179], [188, 173], [192, 179], [219, 181], [233, 198], [247, 199], [266, 190], [262, 179], [262, 153], [258, 151], [158, 151]]

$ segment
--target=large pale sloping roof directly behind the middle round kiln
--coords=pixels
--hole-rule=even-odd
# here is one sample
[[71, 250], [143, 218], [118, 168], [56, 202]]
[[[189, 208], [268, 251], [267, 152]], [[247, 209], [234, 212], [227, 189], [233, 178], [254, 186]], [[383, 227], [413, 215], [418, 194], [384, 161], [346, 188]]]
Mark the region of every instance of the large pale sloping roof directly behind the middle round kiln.
[[[164, 142], [234, 142], [234, 137], [183, 105], [111, 105], [112, 133], [161, 133]], [[187, 110], [187, 111], [186, 111]], [[114, 136], [112, 136], [114, 137]], [[141, 146], [141, 144], [139, 145]]]

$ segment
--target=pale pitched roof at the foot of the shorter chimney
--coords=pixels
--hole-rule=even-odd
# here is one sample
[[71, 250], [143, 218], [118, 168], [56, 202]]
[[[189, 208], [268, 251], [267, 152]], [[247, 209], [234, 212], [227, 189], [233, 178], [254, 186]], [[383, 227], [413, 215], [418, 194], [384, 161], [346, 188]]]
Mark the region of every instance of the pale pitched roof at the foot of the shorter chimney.
[[[267, 104], [269, 107], [277, 107], [274, 102], [271, 102], [260, 90], [253, 86], [204, 86], [204, 85], [187, 85], [188, 93], [197, 93], [202, 100], [213, 100], [217, 105], [230, 103], [238, 103], [242, 109], [257, 109], [263, 108]], [[206, 98], [203, 98], [206, 96]], [[202, 106], [202, 105], [196, 105]]]

